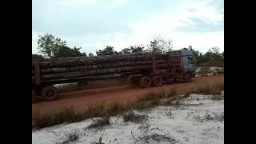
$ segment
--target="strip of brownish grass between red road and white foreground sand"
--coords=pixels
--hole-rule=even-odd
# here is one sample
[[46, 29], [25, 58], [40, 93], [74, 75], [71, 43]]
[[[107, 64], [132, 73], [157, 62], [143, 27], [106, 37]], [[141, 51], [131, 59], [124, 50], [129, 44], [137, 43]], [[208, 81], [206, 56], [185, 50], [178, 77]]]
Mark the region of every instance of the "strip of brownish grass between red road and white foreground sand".
[[[206, 84], [196, 87], [194, 90], [180, 90], [180, 89], [166, 89], [150, 91], [147, 94], [142, 95], [135, 102], [130, 102], [129, 104], [114, 102], [109, 106], [106, 103], [101, 102], [94, 105], [90, 105], [86, 110], [75, 110], [71, 106], [64, 106], [62, 110], [53, 112], [52, 114], [44, 114], [41, 117], [34, 119], [35, 128], [43, 128], [47, 126], [55, 126], [62, 123], [72, 123], [80, 122], [87, 118], [101, 117], [95, 125], [107, 125], [109, 124], [110, 116], [122, 114], [129, 110], [143, 110], [146, 108], [151, 108], [158, 105], [178, 105], [181, 102], [181, 98], [187, 98], [190, 94], [221, 94], [224, 90], [224, 84]], [[179, 97], [181, 96], [182, 97]], [[169, 98], [169, 99], [168, 99]], [[168, 99], [166, 102], [163, 100]], [[92, 126], [94, 127], [94, 126]]]

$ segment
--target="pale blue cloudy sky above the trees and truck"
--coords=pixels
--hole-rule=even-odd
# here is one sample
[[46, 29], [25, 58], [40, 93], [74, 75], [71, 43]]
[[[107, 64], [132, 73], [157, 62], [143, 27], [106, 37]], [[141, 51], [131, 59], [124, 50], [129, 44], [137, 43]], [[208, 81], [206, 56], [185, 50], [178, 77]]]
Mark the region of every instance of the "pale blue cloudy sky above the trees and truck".
[[95, 54], [122, 50], [153, 38], [171, 39], [174, 50], [192, 46], [224, 50], [224, 0], [32, 0], [32, 53], [38, 35], [53, 34], [67, 46]]

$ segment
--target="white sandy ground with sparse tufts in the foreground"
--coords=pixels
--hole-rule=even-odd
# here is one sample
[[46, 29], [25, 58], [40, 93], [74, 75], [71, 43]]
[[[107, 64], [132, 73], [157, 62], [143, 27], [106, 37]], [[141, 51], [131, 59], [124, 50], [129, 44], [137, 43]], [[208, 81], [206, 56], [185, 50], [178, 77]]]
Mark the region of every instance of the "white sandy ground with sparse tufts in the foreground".
[[[171, 111], [170, 113], [168, 113]], [[101, 130], [86, 128], [92, 118], [83, 122], [58, 125], [32, 131], [32, 143], [50, 144], [66, 141], [65, 134], [76, 132], [72, 143], [224, 143], [224, 93], [221, 99], [192, 94], [178, 106], [156, 106], [150, 110], [134, 111], [146, 114], [144, 122], [123, 122], [111, 117], [110, 126]]]

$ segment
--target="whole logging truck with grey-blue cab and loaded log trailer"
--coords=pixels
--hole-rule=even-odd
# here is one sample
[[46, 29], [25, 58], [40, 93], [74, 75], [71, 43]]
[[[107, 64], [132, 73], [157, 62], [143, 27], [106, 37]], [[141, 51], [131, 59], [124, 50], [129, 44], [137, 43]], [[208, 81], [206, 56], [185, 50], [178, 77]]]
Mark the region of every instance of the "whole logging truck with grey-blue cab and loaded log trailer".
[[190, 50], [32, 60], [32, 102], [38, 97], [46, 101], [58, 98], [54, 85], [62, 83], [122, 78], [134, 86], [146, 88], [191, 82], [195, 63]]

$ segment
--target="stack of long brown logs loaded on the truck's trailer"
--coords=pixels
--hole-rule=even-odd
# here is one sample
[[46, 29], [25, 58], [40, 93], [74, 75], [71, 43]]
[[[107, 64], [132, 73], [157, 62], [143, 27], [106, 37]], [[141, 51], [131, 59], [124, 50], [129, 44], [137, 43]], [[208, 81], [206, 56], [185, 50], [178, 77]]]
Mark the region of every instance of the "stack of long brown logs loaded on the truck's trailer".
[[[166, 56], [160, 53], [120, 54], [103, 57], [72, 57], [40, 60], [40, 76], [42, 80], [58, 78], [78, 78], [100, 76], [134, 71], [152, 70], [152, 59], [157, 70], [167, 67]], [[34, 62], [32, 61], [32, 80], [34, 78]]]

